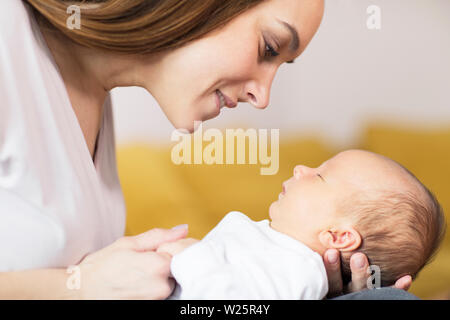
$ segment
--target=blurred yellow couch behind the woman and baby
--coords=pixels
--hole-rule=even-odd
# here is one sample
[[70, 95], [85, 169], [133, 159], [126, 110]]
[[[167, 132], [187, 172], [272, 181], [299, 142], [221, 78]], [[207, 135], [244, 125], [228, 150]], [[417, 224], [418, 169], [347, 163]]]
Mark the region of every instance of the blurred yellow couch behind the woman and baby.
[[[369, 126], [357, 148], [384, 154], [410, 169], [450, 212], [450, 129], [422, 130]], [[172, 145], [120, 146], [118, 168], [127, 204], [127, 235], [154, 227], [188, 223], [190, 236], [202, 238], [231, 210], [254, 220], [268, 217], [281, 183], [296, 164], [317, 166], [338, 151], [316, 138], [280, 141], [276, 175], [260, 175], [260, 165], [180, 165], [171, 161]], [[410, 292], [433, 298], [450, 289], [450, 236], [435, 261]]]

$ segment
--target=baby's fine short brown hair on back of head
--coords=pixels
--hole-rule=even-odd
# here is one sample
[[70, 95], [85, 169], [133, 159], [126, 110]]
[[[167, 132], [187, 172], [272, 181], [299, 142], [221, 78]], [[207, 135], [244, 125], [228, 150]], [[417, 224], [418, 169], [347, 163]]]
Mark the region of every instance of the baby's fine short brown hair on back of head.
[[435, 195], [420, 185], [426, 203], [411, 192], [381, 190], [370, 197], [357, 192], [342, 204], [340, 210], [344, 211], [340, 212], [354, 218], [354, 227], [362, 238], [357, 250], [342, 254], [345, 283], [351, 279], [350, 256], [355, 252], [364, 253], [370, 265], [380, 268], [383, 287], [394, 285], [405, 275], [416, 279], [433, 260], [445, 235], [445, 216]]

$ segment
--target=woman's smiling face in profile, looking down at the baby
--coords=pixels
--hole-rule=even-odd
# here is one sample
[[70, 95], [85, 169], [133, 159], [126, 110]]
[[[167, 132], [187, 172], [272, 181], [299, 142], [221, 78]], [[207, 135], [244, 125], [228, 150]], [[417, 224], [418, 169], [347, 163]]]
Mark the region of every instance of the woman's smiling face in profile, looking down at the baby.
[[279, 66], [303, 52], [323, 10], [323, 0], [264, 1], [225, 27], [144, 67], [143, 87], [175, 128], [189, 132], [195, 129], [194, 121], [219, 115], [217, 90], [233, 102], [229, 107], [249, 102], [264, 109]]

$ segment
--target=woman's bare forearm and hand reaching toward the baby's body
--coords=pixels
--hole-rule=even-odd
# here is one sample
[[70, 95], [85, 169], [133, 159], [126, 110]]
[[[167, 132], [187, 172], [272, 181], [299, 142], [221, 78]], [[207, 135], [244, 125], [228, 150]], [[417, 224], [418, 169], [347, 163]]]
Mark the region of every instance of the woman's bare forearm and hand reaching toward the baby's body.
[[186, 228], [152, 229], [123, 237], [78, 265], [79, 289], [69, 289], [65, 269], [0, 273], [0, 299], [165, 299], [173, 291], [170, 255], [163, 243], [187, 235]]

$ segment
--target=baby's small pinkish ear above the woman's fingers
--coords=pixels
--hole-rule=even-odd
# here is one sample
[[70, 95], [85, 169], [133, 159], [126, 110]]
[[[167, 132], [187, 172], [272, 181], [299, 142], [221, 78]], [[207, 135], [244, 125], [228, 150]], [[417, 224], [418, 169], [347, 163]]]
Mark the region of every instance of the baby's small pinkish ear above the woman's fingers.
[[327, 249], [350, 252], [361, 245], [361, 235], [353, 227], [324, 230], [319, 234], [319, 241]]

